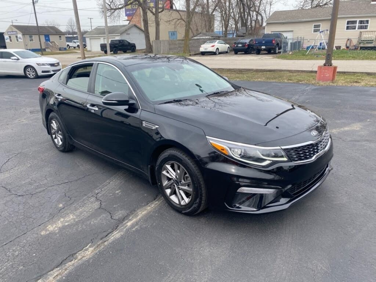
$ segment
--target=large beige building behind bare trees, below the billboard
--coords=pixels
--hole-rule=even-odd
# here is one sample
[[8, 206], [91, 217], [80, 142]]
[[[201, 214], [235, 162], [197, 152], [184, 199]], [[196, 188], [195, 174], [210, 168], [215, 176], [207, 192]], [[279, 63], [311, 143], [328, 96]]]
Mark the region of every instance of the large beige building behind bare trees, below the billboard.
[[[185, 18], [186, 11], [165, 9], [159, 14], [159, 28], [161, 40], [174, 40], [184, 38], [185, 23], [182, 18]], [[214, 32], [214, 16], [211, 21], [208, 20], [207, 14], [195, 13], [191, 24], [190, 38], [200, 32]], [[155, 20], [153, 14], [148, 11], [149, 33], [150, 40], [155, 40]], [[129, 24], [137, 24], [144, 29], [143, 15], [141, 9], [138, 8], [130, 20]]]

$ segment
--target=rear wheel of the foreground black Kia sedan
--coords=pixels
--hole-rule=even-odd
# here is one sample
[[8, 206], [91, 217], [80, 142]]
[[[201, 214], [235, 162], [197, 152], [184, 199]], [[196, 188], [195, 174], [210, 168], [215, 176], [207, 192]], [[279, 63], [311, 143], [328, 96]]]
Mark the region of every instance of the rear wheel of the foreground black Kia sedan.
[[74, 146], [69, 143], [67, 130], [59, 116], [54, 112], [49, 116], [48, 126], [52, 143], [55, 145], [56, 149], [61, 152], [69, 152], [73, 150]]

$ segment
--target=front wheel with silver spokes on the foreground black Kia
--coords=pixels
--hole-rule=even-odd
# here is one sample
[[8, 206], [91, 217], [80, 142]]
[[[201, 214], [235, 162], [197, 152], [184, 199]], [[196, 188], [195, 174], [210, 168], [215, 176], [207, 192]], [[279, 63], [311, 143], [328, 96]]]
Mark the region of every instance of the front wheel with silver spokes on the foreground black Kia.
[[198, 214], [207, 206], [201, 171], [182, 150], [165, 150], [156, 163], [158, 187], [166, 202], [185, 215]]

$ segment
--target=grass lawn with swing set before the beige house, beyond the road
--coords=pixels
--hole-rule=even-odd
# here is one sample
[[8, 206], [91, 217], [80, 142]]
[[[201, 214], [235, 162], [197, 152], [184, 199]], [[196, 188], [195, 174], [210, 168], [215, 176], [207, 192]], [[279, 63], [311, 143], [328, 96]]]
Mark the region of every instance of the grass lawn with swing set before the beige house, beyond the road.
[[[276, 56], [277, 59], [283, 60], [325, 60], [325, 50], [318, 50], [313, 52], [309, 51], [306, 55], [306, 50], [294, 51], [290, 55], [289, 53], [284, 53]], [[376, 51], [370, 50], [334, 50], [333, 60], [376, 60]]]

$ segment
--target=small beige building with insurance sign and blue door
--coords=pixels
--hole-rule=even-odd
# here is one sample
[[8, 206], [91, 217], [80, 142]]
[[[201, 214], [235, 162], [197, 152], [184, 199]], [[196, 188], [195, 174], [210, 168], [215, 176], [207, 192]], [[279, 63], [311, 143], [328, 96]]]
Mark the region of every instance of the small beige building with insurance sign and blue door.
[[[39, 26], [42, 49], [45, 51], [65, 50], [67, 42], [65, 34], [55, 26]], [[4, 32], [7, 49], [27, 49], [38, 52], [38, 30], [36, 26], [10, 25]]]

